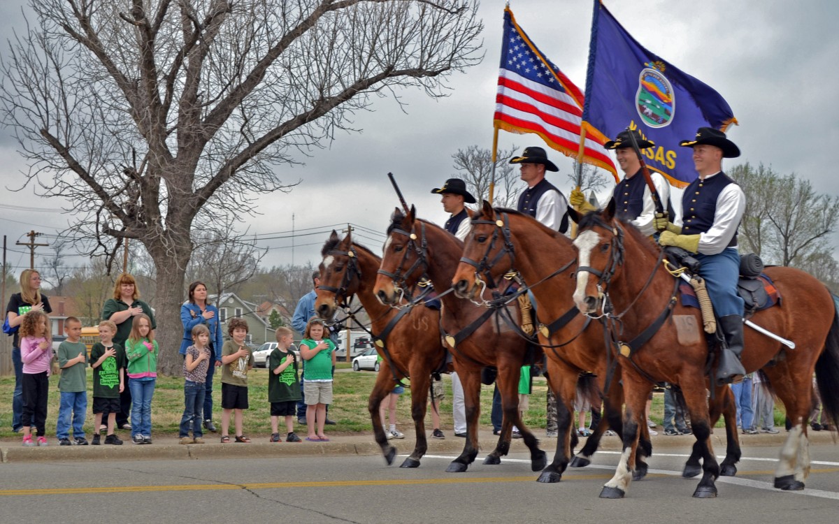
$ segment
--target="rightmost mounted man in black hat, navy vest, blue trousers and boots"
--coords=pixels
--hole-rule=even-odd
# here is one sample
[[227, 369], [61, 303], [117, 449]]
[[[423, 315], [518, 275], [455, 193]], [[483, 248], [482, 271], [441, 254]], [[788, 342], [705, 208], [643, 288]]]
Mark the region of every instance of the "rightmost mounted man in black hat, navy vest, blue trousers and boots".
[[675, 223], [657, 218], [661, 232], [659, 244], [678, 246], [696, 253], [699, 271], [705, 279], [711, 304], [720, 319], [727, 349], [722, 350], [717, 381], [740, 380], [746, 371], [740, 363], [743, 353], [743, 298], [737, 294], [740, 256], [737, 253], [737, 227], [743, 219], [746, 195], [722, 172], [722, 158], [737, 158], [740, 149], [726, 134], [711, 127], [700, 127], [693, 140], [680, 145], [693, 148], [693, 163], [699, 178], [682, 195], [682, 216]]

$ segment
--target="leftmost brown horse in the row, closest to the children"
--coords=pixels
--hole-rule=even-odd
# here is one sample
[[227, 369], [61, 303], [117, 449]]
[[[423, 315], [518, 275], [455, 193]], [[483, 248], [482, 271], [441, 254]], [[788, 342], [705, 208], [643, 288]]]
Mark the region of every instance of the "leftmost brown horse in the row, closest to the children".
[[393, 391], [397, 380], [410, 378], [411, 417], [414, 418], [416, 445], [401, 467], [416, 468], [428, 450], [425, 407], [430, 376], [446, 361], [446, 350], [437, 332], [440, 313], [424, 306], [397, 311], [380, 304], [373, 294], [373, 284], [381, 259], [366, 247], [353, 243], [352, 234], [341, 240], [332, 231], [321, 256], [320, 286], [316, 290], [315, 301], [315, 311], [320, 318], [331, 319], [339, 305], [357, 295], [372, 319], [371, 331], [377, 338], [376, 346], [379, 355], [382, 355], [382, 364], [370, 392], [367, 409], [373, 422], [373, 435], [388, 464], [393, 464], [396, 448], [389, 444], [384, 434], [378, 408]]

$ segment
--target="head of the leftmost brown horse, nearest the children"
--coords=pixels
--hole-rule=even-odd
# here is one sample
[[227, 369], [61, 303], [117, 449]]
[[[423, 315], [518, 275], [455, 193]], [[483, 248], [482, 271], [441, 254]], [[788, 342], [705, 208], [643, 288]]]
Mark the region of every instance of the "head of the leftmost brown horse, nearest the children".
[[341, 240], [333, 230], [320, 255], [323, 262], [320, 262], [320, 285], [315, 290], [315, 313], [321, 319], [331, 319], [338, 304], [357, 292], [361, 278], [358, 257], [352, 248], [352, 233]]

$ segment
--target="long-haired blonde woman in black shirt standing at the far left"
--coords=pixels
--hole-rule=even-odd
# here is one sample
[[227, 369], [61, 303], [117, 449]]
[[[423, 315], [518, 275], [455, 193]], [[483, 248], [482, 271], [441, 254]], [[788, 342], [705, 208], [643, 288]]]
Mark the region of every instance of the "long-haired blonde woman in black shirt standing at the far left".
[[[50, 299], [39, 291], [41, 275], [34, 269], [24, 269], [20, 273], [20, 293], [14, 293], [8, 300], [6, 319], [11, 328], [19, 328], [23, 323], [23, 315], [29, 311], [43, 311], [52, 313]], [[48, 326], [49, 327], [49, 326]], [[47, 338], [52, 334], [47, 329]], [[21, 413], [23, 412], [23, 361], [20, 359], [20, 338], [18, 329], [14, 331], [12, 342], [12, 363], [14, 365], [14, 393], [12, 397], [12, 430], [18, 433], [23, 428]], [[32, 421], [27, 421], [31, 425]]]

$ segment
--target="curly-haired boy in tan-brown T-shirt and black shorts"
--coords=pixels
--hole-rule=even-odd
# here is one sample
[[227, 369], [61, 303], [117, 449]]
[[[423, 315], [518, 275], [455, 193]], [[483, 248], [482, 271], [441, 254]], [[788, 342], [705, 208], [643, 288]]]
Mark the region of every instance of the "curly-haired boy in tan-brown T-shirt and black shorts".
[[221, 346], [221, 442], [230, 442], [230, 414], [234, 413], [236, 442], [248, 443], [250, 438], [242, 433], [242, 410], [248, 409], [248, 371], [253, 367], [253, 352], [245, 344], [248, 323], [231, 319], [227, 333], [233, 340]]

